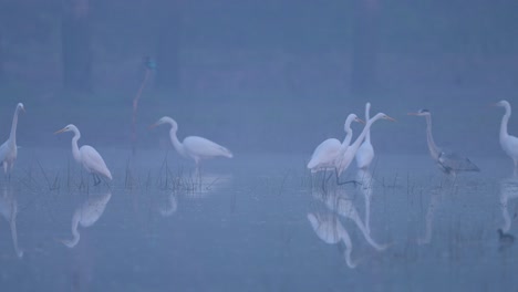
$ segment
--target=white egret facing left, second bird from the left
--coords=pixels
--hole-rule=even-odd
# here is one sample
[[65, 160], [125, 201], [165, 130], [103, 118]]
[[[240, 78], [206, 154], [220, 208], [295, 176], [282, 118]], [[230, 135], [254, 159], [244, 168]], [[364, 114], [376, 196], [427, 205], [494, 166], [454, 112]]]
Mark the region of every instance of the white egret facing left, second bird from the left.
[[81, 138], [81, 133], [79, 132], [77, 127], [70, 124], [64, 128], [56, 131], [54, 134], [64, 132], [74, 133], [74, 137], [72, 138], [72, 155], [77, 163], [83, 165], [86, 171], [92, 174], [94, 178], [94, 185], [96, 186], [101, 182], [101, 178], [99, 176], [103, 176], [112, 180], [112, 174], [110, 173], [110, 169], [106, 167], [106, 164], [104, 163], [103, 157], [101, 157], [99, 152], [90, 145], [83, 145], [81, 148], [77, 146], [77, 140]]

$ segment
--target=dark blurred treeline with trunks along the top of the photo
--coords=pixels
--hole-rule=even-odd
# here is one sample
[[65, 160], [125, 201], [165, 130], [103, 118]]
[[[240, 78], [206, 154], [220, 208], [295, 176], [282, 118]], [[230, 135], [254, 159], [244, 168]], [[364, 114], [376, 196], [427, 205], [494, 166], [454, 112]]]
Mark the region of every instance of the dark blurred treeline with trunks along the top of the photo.
[[53, 70], [62, 85], [84, 92], [94, 90], [94, 67], [106, 59], [155, 56], [155, 84], [177, 90], [190, 50], [338, 50], [352, 58], [343, 82], [361, 93], [377, 86], [380, 54], [515, 54], [514, 11], [510, 0], [2, 0], [0, 77], [9, 80], [8, 64], [41, 45], [61, 55]]

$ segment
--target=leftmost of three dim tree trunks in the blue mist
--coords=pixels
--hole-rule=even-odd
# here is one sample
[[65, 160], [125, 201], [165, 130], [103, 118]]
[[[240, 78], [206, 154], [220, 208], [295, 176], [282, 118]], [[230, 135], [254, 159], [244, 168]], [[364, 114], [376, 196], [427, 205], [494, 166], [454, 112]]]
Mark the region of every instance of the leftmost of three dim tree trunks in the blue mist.
[[92, 92], [92, 46], [89, 0], [63, 0], [61, 23], [63, 85]]

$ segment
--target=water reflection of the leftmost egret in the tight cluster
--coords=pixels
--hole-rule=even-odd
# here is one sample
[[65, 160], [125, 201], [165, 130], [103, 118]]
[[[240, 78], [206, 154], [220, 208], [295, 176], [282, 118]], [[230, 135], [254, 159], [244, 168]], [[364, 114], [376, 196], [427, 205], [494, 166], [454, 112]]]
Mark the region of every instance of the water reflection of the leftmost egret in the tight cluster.
[[345, 228], [343, 228], [336, 216], [332, 213], [308, 213], [308, 220], [313, 228], [314, 233], [328, 244], [343, 242], [345, 246], [344, 257], [349, 268], [356, 268], [355, 262], [351, 260], [352, 241]]

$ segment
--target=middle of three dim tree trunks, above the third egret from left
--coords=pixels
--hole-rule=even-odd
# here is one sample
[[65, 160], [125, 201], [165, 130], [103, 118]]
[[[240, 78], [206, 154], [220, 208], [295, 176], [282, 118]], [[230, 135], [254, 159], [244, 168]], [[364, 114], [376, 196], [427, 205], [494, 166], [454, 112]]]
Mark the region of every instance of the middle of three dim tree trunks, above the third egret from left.
[[156, 85], [180, 90], [182, 0], [174, 0], [158, 35]]

